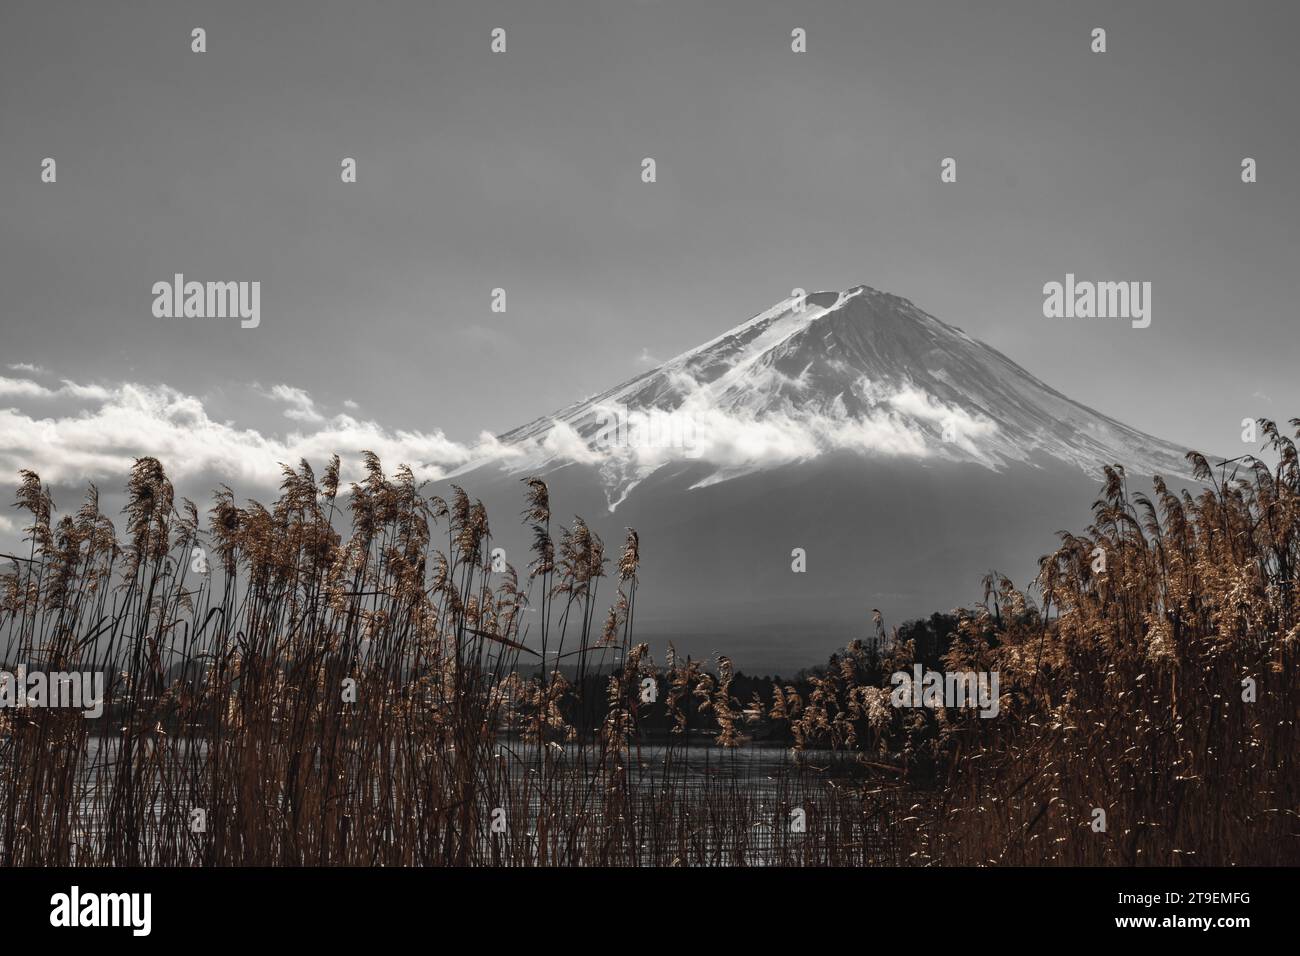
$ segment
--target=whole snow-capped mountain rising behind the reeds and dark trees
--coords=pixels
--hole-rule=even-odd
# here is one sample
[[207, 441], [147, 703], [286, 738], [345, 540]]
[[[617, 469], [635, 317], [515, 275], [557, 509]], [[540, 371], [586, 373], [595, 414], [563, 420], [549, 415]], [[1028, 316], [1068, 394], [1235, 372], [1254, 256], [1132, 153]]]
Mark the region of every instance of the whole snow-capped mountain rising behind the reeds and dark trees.
[[[750, 672], [1028, 584], [1089, 519], [1102, 466], [1190, 480], [1186, 449], [1049, 388], [867, 286], [789, 298], [663, 365], [498, 436], [454, 480], [489, 515], [540, 475], [556, 519], [641, 536], [637, 633]], [[516, 567], [525, 538], [493, 531]], [[806, 571], [792, 570], [794, 549]]]

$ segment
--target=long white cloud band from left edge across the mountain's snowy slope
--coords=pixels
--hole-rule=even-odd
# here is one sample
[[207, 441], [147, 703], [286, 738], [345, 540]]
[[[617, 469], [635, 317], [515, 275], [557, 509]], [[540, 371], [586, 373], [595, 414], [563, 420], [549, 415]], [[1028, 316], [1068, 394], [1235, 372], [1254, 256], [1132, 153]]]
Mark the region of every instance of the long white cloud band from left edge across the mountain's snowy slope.
[[[707, 485], [837, 450], [982, 459], [979, 440], [997, 431], [911, 386], [858, 382], [854, 394], [870, 397], [868, 411], [859, 415], [846, 412], [842, 395], [809, 407], [802, 403], [802, 378], [750, 367], [745, 388], [737, 389], [722, 380], [701, 384], [681, 372], [671, 378], [680, 401], [671, 412], [654, 412], [659, 419], [636, 412], [641, 418], [628, 423], [627, 408], [589, 406], [585, 418], [543, 423], [533, 437], [511, 445], [488, 433], [462, 444], [442, 431], [390, 429], [350, 412], [326, 415], [309, 393], [286, 384], [257, 389], [285, 406], [292, 425], [280, 433], [216, 420], [202, 398], [165, 385], [64, 381], [49, 389], [0, 378], [0, 397], [26, 406], [0, 407], [0, 485], [12, 485], [20, 468], [31, 468], [52, 485], [114, 480], [136, 458], [152, 455], [177, 483], [216, 476], [242, 493], [244, 486], [261, 493], [280, 484], [281, 463], [307, 459], [318, 467], [334, 454], [343, 459], [343, 479], [352, 480], [360, 476], [360, 453], [369, 450], [390, 470], [411, 466], [421, 480], [489, 463], [508, 471], [560, 462], [597, 466], [612, 506], [651, 472], [676, 462], [710, 466], [698, 481]], [[768, 401], [755, 403], [758, 394]], [[40, 414], [39, 406], [55, 397], [75, 407]], [[351, 411], [355, 403], [344, 406]], [[619, 415], [624, 428], [615, 437], [594, 433], [593, 416], [599, 423]], [[946, 431], [945, 441], [937, 440], [940, 431]]]

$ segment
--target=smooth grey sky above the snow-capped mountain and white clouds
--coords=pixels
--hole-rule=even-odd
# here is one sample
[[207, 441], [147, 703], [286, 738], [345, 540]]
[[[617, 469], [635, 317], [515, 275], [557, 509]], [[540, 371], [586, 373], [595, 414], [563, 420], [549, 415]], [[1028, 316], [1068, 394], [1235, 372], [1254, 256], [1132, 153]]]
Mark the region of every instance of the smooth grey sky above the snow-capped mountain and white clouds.
[[[6, 0], [0, 362], [42, 371], [0, 376], [48, 393], [0, 395], [10, 450], [103, 401], [65, 378], [165, 385], [255, 437], [346, 412], [469, 441], [858, 284], [1242, 449], [1243, 418], [1300, 415], [1297, 10]], [[155, 319], [174, 272], [260, 281], [260, 328]], [[1044, 319], [1067, 272], [1150, 281], [1150, 328]]]

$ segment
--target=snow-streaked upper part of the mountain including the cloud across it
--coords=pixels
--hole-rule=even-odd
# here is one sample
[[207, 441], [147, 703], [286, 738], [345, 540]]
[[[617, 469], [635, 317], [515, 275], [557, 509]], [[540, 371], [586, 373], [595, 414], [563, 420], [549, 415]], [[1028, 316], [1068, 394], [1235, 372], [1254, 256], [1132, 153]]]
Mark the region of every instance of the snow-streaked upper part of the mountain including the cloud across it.
[[845, 450], [993, 471], [1056, 459], [1089, 476], [1109, 463], [1188, 473], [1183, 449], [1066, 398], [961, 329], [868, 286], [785, 299], [499, 436], [495, 449], [512, 473], [595, 466], [610, 510], [651, 473], [682, 463], [707, 466], [693, 484], [701, 488]]

